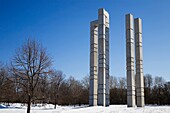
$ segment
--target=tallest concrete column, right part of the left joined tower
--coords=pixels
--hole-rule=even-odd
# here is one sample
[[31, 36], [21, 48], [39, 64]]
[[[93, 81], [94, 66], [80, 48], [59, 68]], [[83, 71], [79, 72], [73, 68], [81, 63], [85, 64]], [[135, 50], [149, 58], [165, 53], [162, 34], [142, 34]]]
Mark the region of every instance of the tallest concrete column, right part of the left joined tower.
[[[107, 56], [109, 54], [108, 18], [108, 13], [103, 8], [98, 10], [98, 105], [101, 106], [109, 105], [109, 57]], [[107, 33], [106, 29], [108, 30]]]

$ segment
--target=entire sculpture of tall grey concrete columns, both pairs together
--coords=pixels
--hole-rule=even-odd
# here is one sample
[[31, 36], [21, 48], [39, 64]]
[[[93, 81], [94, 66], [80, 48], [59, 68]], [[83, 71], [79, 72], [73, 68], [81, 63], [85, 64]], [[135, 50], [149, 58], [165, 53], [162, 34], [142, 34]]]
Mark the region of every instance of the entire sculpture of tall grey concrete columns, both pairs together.
[[[134, 24], [135, 22], [135, 24]], [[127, 106], [134, 107], [134, 25], [136, 58], [136, 96], [137, 106], [144, 106], [144, 77], [142, 58], [142, 21], [126, 15], [126, 74]], [[90, 106], [109, 106], [109, 14], [105, 9], [98, 10], [98, 20], [90, 23]]]

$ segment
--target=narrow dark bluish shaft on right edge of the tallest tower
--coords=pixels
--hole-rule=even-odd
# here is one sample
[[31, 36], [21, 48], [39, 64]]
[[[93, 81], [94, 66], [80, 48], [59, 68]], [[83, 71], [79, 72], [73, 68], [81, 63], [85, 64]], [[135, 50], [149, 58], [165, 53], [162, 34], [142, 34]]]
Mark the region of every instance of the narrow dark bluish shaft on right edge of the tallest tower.
[[110, 105], [110, 84], [109, 84], [109, 14], [106, 17], [106, 106]]

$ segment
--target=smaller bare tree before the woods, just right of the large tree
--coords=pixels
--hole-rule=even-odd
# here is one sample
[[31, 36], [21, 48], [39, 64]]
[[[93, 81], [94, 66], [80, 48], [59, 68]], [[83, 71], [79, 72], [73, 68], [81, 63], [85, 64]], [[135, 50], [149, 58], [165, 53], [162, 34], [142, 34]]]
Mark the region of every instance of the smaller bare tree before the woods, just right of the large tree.
[[56, 109], [56, 105], [58, 104], [60, 86], [64, 80], [64, 77], [65, 77], [65, 75], [63, 74], [62, 71], [56, 71], [56, 70], [54, 70], [50, 76], [51, 93], [52, 93], [51, 98], [54, 102], [55, 109]]

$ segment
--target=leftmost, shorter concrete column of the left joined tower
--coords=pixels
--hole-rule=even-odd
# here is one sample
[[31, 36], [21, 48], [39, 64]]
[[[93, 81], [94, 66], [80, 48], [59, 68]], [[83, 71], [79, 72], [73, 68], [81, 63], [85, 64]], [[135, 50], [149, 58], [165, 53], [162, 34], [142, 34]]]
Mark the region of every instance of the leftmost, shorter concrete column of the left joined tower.
[[97, 106], [98, 20], [90, 23], [90, 94], [89, 105]]

